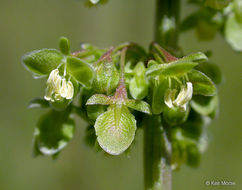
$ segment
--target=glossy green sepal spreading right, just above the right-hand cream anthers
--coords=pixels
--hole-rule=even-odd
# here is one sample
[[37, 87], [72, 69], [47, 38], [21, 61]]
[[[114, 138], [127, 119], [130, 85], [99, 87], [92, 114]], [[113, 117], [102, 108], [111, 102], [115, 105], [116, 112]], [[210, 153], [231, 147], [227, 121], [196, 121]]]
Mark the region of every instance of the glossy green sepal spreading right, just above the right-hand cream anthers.
[[204, 96], [213, 96], [216, 94], [215, 85], [205, 74], [197, 70], [192, 70], [187, 74], [189, 81], [193, 86], [193, 94], [200, 94]]

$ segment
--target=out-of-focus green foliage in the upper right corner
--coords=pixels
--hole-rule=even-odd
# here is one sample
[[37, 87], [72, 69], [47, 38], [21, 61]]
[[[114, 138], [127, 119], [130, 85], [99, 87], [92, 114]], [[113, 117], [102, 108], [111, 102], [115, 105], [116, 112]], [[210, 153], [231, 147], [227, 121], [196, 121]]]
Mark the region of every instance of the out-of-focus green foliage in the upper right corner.
[[198, 10], [185, 18], [180, 27], [182, 31], [194, 28], [202, 41], [212, 40], [220, 33], [234, 50], [242, 51], [241, 0], [206, 0], [190, 3], [196, 3]]

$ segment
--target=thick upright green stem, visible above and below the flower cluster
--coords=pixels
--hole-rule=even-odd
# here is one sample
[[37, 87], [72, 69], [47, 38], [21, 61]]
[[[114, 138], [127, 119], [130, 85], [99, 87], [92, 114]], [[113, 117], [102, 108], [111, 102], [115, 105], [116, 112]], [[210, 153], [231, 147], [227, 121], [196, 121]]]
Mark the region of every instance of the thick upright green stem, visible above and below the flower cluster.
[[[180, 0], [157, 0], [155, 41], [176, 54], [178, 50]], [[162, 101], [162, 100], [161, 100]], [[147, 116], [144, 126], [145, 190], [171, 190], [171, 143], [161, 115]]]

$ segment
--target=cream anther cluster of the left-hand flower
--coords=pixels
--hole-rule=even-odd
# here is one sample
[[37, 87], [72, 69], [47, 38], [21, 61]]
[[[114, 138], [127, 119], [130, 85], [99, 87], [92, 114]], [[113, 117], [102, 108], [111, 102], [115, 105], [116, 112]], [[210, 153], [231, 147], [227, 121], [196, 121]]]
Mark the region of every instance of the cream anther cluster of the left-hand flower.
[[51, 71], [46, 84], [47, 88], [44, 96], [46, 100], [54, 102], [56, 100], [61, 100], [62, 98], [73, 98], [74, 87], [72, 82], [66, 82], [66, 79], [59, 75], [58, 69]]

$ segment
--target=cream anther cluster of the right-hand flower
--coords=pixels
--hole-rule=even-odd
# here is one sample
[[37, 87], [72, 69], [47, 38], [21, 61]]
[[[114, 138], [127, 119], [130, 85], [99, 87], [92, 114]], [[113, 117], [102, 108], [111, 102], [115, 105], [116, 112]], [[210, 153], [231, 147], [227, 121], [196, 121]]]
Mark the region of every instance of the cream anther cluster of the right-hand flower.
[[188, 102], [192, 99], [193, 87], [191, 82], [187, 82], [186, 87], [182, 87], [181, 91], [175, 99], [176, 90], [168, 89], [165, 93], [165, 104], [169, 107], [180, 107], [186, 110]]

